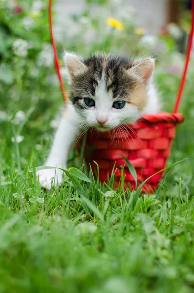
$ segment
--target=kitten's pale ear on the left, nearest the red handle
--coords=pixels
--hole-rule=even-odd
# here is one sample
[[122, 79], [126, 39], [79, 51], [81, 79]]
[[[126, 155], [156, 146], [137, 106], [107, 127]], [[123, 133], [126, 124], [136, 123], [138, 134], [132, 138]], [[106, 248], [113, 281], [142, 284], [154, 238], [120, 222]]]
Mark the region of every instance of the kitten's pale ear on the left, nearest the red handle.
[[70, 80], [74, 80], [76, 75], [86, 70], [86, 65], [76, 55], [65, 53], [64, 61], [69, 72]]

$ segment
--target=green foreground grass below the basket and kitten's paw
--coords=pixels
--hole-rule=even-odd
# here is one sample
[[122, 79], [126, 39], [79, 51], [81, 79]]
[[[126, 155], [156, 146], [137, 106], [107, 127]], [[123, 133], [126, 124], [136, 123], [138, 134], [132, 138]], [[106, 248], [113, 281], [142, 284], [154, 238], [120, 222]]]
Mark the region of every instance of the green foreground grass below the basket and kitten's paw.
[[0, 193], [0, 292], [193, 292], [194, 199], [181, 179], [168, 198], [138, 197], [68, 175], [45, 192], [27, 168], [10, 168], [13, 183]]

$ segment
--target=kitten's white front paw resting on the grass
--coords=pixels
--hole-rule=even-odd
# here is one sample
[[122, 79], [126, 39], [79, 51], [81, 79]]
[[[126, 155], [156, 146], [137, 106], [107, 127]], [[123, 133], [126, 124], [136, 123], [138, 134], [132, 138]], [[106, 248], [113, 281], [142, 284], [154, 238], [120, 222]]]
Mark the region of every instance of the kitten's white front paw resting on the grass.
[[60, 169], [53, 168], [38, 171], [36, 175], [37, 178], [39, 178], [40, 184], [44, 188], [50, 190], [52, 185], [56, 187], [57, 185], [62, 184], [64, 172]]

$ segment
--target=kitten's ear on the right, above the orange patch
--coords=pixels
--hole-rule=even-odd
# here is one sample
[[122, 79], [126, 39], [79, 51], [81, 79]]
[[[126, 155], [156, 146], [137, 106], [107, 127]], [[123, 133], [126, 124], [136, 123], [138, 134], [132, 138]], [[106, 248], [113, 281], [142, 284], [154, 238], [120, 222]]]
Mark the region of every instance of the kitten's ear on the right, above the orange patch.
[[140, 76], [144, 83], [147, 84], [151, 78], [154, 69], [154, 60], [151, 58], [145, 59], [128, 70], [129, 73], [133, 72]]

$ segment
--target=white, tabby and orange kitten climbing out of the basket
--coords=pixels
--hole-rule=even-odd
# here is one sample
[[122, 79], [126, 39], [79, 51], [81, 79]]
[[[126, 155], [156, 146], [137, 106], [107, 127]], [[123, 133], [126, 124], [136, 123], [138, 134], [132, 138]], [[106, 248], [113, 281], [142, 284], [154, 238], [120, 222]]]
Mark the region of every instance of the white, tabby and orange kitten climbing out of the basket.
[[[83, 60], [65, 53], [69, 73], [69, 101], [61, 117], [45, 166], [66, 168], [69, 150], [89, 126], [106, 131], [121, 124], [131, 124], [143, 114], [159, 111], [160, 102], [150, 58], [132, 60], [116, 55], [92, 55]], [[45, 169], [37, 172], [44, 188], [63, 182], [63, 171]]]

